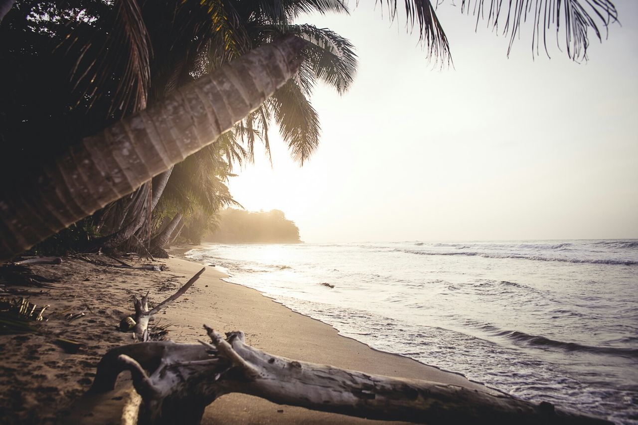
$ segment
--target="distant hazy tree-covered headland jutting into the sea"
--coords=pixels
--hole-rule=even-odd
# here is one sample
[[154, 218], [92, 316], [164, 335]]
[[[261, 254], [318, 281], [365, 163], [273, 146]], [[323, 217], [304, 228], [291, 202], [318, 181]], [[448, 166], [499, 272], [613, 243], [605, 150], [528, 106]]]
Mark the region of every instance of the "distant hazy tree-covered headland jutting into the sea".
[[301, 242], [299, 228], [278, 209], [258, 213], [225, 209], [219, 213], [217, 230], [204, 239], [225, 244]]

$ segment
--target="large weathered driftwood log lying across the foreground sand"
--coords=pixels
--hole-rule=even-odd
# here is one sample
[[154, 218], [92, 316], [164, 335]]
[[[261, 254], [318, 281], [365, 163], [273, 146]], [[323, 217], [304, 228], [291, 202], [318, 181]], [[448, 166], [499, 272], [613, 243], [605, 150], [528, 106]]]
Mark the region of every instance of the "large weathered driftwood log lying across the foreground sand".
[[429, 424], [603, 424], [602, 419], [456, 385], [293, 361], [256, 350], [242, 332], [212, 343], [146, 342], [115, 348], [98, 365], [92, 392], [114, 388], [128, 370], [141, 396], [138, 423], [199, 423], [219, 396], [243, 392], [325, 412]]

